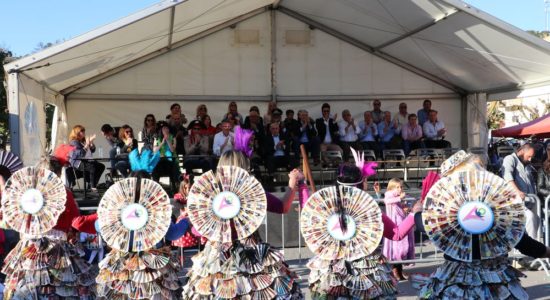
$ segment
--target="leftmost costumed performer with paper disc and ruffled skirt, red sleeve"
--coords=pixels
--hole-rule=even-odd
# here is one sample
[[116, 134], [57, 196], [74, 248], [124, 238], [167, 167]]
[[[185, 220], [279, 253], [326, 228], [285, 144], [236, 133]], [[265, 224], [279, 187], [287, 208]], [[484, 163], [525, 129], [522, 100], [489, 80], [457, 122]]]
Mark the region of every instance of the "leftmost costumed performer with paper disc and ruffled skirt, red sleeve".
[[[58, 175], [56, 159], [14, 173], [2, 199], [8, 225], [21, 240], [5, 259], [5, 299], [93, 299], [95, 275], [70, 243], [71, 221], [79, 215], [72, 193]], [[57, 174], [57, 175], [56, 175]], [[53, 218], [52, 218], [53, 217]]]

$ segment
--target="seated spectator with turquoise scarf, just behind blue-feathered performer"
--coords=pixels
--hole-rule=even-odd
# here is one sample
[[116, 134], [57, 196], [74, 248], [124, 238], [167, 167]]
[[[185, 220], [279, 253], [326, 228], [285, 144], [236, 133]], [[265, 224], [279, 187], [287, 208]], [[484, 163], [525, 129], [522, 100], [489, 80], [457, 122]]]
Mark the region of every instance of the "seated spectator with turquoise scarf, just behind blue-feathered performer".
[[179, 166], [176, 156], [176, 138], [170, 133], [170, 127], [166, 122], [159, 122], [160, 130], [155, 140], [153, 151], [160, 151], [160, 161], [153, 170], [153, 180], [159, 181], [161, 176], [170, 177], [172, 191], [178, 186]]

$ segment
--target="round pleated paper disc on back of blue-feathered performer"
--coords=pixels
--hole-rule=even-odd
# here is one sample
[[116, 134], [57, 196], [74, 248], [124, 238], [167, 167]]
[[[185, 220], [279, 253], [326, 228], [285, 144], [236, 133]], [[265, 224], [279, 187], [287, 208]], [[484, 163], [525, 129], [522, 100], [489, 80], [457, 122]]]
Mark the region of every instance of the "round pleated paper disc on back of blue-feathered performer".
[[170, 226], [170, 198], [156, 182], [127, 178], [112, 185], [97, 209], [101, 236], [109, 246], [139, 252], [158, 243]]

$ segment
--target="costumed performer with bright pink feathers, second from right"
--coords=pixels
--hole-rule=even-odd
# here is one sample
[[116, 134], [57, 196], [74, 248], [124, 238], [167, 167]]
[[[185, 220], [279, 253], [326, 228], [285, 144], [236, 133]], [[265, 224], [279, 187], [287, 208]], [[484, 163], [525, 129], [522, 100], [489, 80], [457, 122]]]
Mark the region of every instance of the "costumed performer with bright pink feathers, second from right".
[[376, 173], [376, 163], [351, 150], [361, 180], [317, 191], [302, 211], [302, 236], [315, 254], [307, 264], [312, 298], [395, 299], [397, 281], [380, 242], [382, 236], [406, 236], [414, 224], [412, 215], [398, 228], [369, 194], [354, 187]]

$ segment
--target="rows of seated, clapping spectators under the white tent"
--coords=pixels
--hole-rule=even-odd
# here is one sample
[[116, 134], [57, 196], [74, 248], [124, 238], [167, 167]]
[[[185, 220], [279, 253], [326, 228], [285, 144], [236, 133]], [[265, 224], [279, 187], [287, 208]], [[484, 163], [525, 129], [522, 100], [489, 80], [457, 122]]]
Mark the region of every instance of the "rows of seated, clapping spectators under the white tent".
[[[349, 161], [351, 148], [372, 150], [377, 157], [382, 157], [384, 149], [403, 149], [405, 155], [409, 155], [417, 148], [451, 146], [445, 140], [447, 128], [438, 119], [438, 112], [432, 109], [429, 99], [424, 100], [416, 114], [407, 111], [406, 103], [400, 103], [399, 112], [393, 115], [381, 109], [380, 100], [374, 100], [372, 106], [372, 110], [364, 112], [363, 120], [356, 121], [348, 109], [338, 118], [338, 113], [333, 114], [328, 103], [321, 106], [321, 117], [313, 119], [305, 109], [298, 110], [296, 118], [295, 112], [288, 109], [283, 117], [283, 111], [275, 102], [269, 102], [263, 116], [257, 106], [251, 106], [248, 115], [243, 117], [237, 104], [230, 102], [227, 113], [214, 126], [205, 104], [199, 105], [194, 118], [188, 120], [181, 106], [174, 103], [170, 113], [161, 120], [147, 114], [137, 134], [126, 124], [120, 127], [104, 124], [101, 132], [109, 149], [99, 157], [109, 158], [112, 178], [127, 177], [130, 172], [128, 154], [138, 149], [139, 141], [144, 149], [160, 151], [161, 160], [153, 171], [153, 178], [169, 176], [176, 190], [180, 175], [178, 158], [183, 157], [181, 163], [187, 174], [193, 169], [203, 172], [213, 169], [224, 152], [234, 149], [237, 126], [253, 131], [253, 166], [264, 165], [269, 174], [279, 168], [291, 170], [296, 167], [301, 145], [315, 165], [322, 162], [325, 166], [341, 163], [338, 157]], [[81, 125], [74, 126], [69, 137], [75, 149], [71, 152], [70, 165], [77, 177], [86, 176], [92, 190], [96, 189], [104, 171], [101, 163], [86, 159], [96, 151], [95, 140], [95, 135], [86, 137]], [[340, 155], [322, 155], [326, 151], [337, 151]]]

